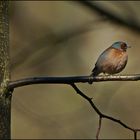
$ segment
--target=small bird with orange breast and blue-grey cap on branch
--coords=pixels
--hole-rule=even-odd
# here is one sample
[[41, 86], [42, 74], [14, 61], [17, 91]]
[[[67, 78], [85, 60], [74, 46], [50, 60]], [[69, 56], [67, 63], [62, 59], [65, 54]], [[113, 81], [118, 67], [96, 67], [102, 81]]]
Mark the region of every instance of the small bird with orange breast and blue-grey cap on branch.
[[130, 46], [123, 41], [113, 43], [101, 53], [90, 76], [94, 77], [100, 73], [113, 75], [121, 72], [128, 61], [127, 48]]

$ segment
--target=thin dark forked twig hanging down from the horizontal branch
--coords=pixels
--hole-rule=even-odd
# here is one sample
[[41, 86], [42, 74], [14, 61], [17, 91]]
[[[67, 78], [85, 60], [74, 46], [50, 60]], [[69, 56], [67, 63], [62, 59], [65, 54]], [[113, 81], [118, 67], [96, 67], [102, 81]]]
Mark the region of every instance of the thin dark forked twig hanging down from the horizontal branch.
[[88, 97], [87, 95], [85, 95], [74, 83], [70, 84], [73, 89], [76, 91], [77, 94], [79, 94], [80, 96], [82, 96], [84, 99], [86, 99], [91, 107], [95, 110], [95, 112], [99, 115], [100, 119], [99, 119], [99, 128], [97, 130], [97, 134], [96, 134], [96, 138], [98, 139], [98, 136], [99, 136], [99, 133], [100, 133], [100, 129], [101, 129], [101, 120], [102, 118], [105, 118], [105, 119], [108, 119], [108, 120], [111, 120], [113, 122], [116, 122], [118, 124], [120, 124], [121, 126], [123, 126], [124, 128], [128, 129], [128, 130], [131, 130], [133, 133], [134, 133], [134, 139], [137, 139], [137, 132], [140, 131], [140, 129], [135, 129], [135, 128], [132, 128], [130, 126], [128, 126], [127, 124], [123, 123], [122, 121], [116, 119], [116, 118], [113, 118], [111, 116], [108, 116], [108, 115], [105, 115], [103, 114], [97, 107], [96, 105], [93, 103], [92, 101], [92, 98]]

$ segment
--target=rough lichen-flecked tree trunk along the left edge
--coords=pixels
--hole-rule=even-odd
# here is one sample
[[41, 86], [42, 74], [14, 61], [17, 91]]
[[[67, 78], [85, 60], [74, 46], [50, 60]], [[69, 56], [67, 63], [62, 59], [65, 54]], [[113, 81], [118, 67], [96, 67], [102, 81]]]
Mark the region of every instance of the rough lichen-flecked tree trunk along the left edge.
[[0, 1], [0, 139], [11, 138], [11, 94], [7, 84], [9, 72], [8, 1]]

